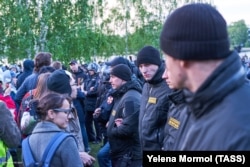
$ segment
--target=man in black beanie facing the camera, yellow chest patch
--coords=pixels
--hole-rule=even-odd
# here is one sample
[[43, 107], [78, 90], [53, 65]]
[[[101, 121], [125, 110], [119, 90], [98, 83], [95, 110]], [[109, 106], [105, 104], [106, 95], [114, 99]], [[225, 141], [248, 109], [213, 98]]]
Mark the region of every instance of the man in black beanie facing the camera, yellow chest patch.
[[136, 62], [146, 81], [142, 90], [139, 117], [142, 150], [161, 150], [168, 116], [168, 95], [172, 90], [162, 79], [165, 66], [157, 49], [152, 46], [143, 47], [137, 55]]

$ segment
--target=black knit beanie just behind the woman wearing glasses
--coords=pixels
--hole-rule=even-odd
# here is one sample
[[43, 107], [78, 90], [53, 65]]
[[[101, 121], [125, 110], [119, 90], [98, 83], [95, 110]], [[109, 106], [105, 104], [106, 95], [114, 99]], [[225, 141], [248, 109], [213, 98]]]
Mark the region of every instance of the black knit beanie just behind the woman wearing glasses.
[[47, 87], [49, 90], [61, 93], [71, 94], [70, 77], [64, 70], [55, 70], [52, 72], [47, 80]]

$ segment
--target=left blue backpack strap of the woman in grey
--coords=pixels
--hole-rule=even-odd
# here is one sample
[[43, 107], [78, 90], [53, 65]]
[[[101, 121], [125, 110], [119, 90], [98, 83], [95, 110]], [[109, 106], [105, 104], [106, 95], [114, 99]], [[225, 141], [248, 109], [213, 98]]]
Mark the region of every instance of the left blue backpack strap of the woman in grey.
[[32, 164], [35, 164], [35, 159], [33, 157], [33, 154], [31, 152], [31, 148], [29, 145], [29, 136], [23, 140], [22, 142], [22, 154], [23, 154], [23, 161], [25, 167], [32, 166]]

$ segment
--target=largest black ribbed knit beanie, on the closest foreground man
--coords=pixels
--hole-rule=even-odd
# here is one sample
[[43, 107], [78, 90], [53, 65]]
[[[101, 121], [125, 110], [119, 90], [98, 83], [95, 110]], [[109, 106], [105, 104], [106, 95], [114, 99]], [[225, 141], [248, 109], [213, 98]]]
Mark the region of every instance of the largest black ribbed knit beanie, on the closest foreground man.
[[208, 4], [189, 4], [167, 18], [160, 36], [161, 49], [181, 60], [212, 60], [229, 56], [227, 24]]

